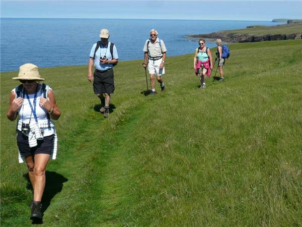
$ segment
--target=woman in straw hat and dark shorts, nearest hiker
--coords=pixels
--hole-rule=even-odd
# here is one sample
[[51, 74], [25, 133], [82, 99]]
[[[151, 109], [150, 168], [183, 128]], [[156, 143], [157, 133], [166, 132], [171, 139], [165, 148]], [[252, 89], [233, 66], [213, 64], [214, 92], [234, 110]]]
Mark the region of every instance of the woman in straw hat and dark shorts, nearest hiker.
[[51, 88], [38, 81], [38, 67], [25, 64], [20, 67], [18, 77], [22, 84], [13, 89], [10, 96], [9, 120], [14, 121], [19, 115], [17, 124], [17, 144], [19, 162], [26, 161], [28, 175], [34, 189], [31, 203], [32, 220], [42, 220], [41, 199], [45, 187], [45, 169], [50, 158], [55, 159], [57, 137], [52, 120], [59, 119], [58, 108]]

